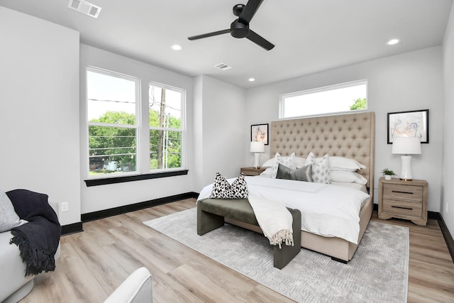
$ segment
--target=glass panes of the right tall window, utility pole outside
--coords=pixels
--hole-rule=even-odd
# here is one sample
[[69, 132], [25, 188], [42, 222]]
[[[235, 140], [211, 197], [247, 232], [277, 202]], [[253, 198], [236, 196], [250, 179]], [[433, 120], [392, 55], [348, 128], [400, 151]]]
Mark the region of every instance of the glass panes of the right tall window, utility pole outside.
[[183, 104], [181, 89], [149, 84], [150, 170], [182, 167]]

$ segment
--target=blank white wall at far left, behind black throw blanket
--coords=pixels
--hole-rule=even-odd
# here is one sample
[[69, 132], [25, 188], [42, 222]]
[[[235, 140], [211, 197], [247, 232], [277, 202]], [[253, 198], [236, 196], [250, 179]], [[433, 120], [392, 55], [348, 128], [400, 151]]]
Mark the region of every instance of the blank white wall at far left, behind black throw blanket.
[[79, 33], [0, 6], [0, 188], [69, 202], [80, 221]]

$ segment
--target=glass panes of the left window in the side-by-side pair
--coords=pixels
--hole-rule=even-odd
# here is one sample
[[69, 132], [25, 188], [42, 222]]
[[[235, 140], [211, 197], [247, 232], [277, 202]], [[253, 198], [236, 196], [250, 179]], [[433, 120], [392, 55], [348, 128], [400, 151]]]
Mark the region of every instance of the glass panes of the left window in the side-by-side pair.
[[139, 84], [87, 68], [89, 176], [137, 171]]

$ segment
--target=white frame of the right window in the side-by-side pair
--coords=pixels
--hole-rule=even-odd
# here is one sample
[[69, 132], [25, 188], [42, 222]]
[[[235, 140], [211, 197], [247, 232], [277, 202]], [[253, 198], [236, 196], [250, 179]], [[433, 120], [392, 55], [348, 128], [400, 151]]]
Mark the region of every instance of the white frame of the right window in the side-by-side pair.
[[[162, 168], [162, 169], [156, 169], [156, 170], [151, 170], [150, 169], [150, 144], [148, 144], [148, 171], [150, 173], [155, 173], [155, 172], [167, 172], [167, 171], [174, 171], [174, 170], [185, 170], [186, 169], [186, 89], [181, 89], [179, 87], [172, 87], [171, 85], [167, 84], [162, 84], [160, 82], [154, 82], [150, 81], [148, 82], [148, 92], [150, 89], [150, 86], [153, 87], [160, 87], [162, 89], [169, 89], [175, 92], [179, 92], [182, 94], [182, 100], [181, 100], [181, 120], [180, 120], [180, 127], [181, 128], [163, 128], [163, 127], [155, 127], [155, 126], [150, 126], [150, 123], [147, 123], [148, 126], [148, 143], [150, 142], [150, 131], [151, 130], [157, 130], [157, 131], [179, 131], [182, 133], [182, 163], [181, 167], [172, 167], [172, 168]], [[147, 102], [148, 105], [148, 102]]]

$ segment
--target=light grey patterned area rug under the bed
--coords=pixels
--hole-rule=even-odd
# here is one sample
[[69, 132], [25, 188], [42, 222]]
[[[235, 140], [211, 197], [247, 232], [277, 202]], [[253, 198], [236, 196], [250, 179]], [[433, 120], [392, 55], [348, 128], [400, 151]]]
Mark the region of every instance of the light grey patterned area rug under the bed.
[[198, 236], [195, 208], [143, 223], [297, 302], [406, 302], [406, 227], [370, 221], [348, 264], [301, 248], [278, 270], [272, 246], [260, 233], [226, 224]]

